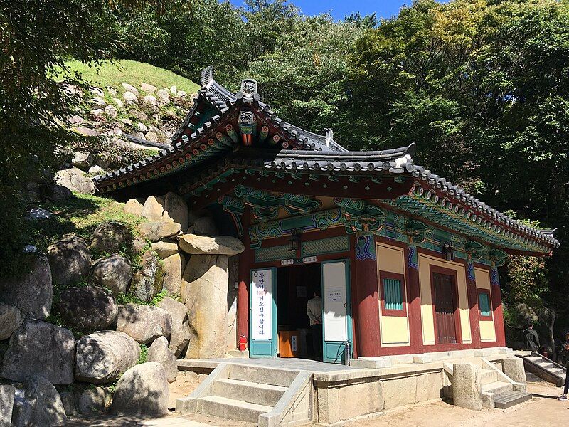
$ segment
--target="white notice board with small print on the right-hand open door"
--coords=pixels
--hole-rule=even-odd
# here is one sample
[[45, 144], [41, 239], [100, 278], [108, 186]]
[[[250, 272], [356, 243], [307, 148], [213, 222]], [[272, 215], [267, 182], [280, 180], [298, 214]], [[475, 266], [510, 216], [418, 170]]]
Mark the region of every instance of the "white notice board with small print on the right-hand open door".
[[346, 262], [322, 264], [324, 341], [347, 341]]

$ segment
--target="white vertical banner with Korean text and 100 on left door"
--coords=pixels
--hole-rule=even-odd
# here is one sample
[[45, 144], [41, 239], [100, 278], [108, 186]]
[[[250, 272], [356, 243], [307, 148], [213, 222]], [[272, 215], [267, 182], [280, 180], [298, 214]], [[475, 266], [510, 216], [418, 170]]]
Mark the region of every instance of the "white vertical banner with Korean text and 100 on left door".
[[272, 270], [252, 270], [251, 338], [272, 339]]

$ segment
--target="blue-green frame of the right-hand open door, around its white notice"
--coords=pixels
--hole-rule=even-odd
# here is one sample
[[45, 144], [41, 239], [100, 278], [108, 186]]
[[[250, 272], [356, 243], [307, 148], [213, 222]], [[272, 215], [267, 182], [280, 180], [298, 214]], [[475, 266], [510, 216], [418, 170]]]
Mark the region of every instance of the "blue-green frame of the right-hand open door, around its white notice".
[[[341, 263], [345, 265], [346, 274], [346, 337], [347, 342], [350, 343], [351, 353], [353, 353], [353, 339], [352, 339], [352, 327], [351, 327], [351, 286], [350, 286], [350, 260], [349, 259], [339, 259], [323, 261], [321, 263], [321, 286], [324, 290], [324, 265], [331, 263]], [[326, 341], [326, 319], [324, 316], [324, 292], [322, 292], [322, 353], [324, 354], [324, 362], [343, 364], [345, 359], [345, 348], [346, 342], [339, 341]], [[352, 354], [350, 354], [351, 357]]]

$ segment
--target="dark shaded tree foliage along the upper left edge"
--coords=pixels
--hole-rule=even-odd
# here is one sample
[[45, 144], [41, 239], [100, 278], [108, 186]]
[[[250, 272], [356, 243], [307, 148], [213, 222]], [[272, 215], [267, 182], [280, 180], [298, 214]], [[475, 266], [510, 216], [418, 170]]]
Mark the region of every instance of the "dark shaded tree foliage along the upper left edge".
[[0, 1], [0, 274], [28, 243], [26, 186], [48, 175], [56, 149], [75, 138], [66, 118], [78, 99], [53, 76], [63, 69], [65, 80], [78, 80], [63, 60], [107, 58], [113, 31], [104, 2]]

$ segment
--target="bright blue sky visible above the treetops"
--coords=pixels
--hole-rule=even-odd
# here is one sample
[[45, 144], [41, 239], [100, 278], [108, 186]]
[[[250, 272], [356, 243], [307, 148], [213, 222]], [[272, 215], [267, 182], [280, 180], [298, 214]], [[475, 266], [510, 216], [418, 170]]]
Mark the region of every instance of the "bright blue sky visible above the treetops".
[[[231, 0], [235, 6], [242, 6], [243, 0]], [[403, 5], [410, 5], [412, 0], [289, 0], [302, 10], [305, 15], [329, 13], [334, 19], [359, 11], [362, 15], [377, 13], [378, 18], [390, 18], [398, 14]]]

